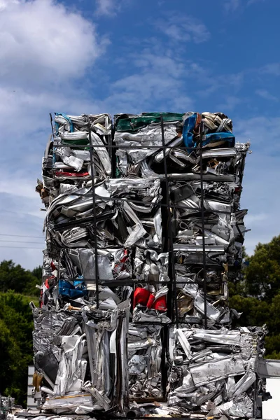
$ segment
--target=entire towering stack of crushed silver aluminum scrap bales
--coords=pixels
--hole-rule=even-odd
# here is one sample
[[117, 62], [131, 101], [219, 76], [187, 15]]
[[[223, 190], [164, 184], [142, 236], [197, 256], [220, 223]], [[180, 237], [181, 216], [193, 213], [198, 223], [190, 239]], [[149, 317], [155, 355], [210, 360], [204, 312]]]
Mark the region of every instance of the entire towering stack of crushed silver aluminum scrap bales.
[[223, 113], [55, 114], [36, 187], [38, 420], [259, 418], [265, 328], [231, 329], [228, 304], [250, 146], [232, 130]]

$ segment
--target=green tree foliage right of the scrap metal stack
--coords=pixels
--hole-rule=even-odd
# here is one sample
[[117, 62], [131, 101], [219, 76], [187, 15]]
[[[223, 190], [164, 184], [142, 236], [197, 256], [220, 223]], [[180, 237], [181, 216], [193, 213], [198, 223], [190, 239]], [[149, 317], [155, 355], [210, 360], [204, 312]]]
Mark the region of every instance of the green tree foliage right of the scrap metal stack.
[[230, 284], [230, 306], [242, 312], [237, 325], [266, 324], [266, 357], [280, 358], [280, 235], [268, 244], [258, 244], [248, 264], [244, 281]]

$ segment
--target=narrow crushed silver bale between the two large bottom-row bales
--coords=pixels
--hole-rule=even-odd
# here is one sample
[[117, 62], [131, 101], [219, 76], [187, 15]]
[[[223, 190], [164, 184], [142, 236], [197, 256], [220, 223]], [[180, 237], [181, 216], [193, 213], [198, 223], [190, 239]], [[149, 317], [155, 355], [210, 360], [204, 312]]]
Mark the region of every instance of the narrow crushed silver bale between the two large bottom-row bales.
[[162, 325], [130, 323], [128, 377], [130, 400], [162, 398]]

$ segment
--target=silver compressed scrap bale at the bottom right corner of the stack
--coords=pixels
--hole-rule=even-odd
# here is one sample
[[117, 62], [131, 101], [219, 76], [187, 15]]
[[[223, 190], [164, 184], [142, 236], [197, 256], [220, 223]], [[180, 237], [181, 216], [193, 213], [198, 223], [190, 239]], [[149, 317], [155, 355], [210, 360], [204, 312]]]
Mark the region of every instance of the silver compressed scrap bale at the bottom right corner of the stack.
[[265, 388], [257, 375], [265, 332], [170, 327], [167, 404], [214, 418], [252, 418], [255, 389]]

